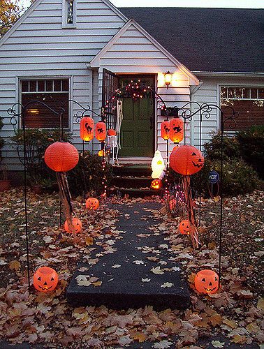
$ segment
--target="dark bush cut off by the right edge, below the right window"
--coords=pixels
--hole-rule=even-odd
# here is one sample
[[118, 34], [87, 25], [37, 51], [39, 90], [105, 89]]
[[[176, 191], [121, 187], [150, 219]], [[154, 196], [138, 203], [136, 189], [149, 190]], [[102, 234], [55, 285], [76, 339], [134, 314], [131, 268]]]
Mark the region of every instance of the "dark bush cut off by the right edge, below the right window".
[[237, 133], [240, 155], [264, 179], [264, 126], [251, 126]]

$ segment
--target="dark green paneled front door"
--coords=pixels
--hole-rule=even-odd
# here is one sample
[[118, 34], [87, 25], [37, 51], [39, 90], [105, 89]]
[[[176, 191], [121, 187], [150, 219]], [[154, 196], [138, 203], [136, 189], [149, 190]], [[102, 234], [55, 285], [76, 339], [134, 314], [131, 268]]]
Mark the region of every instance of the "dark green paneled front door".
[[119, 156], [153, 156], [154, 99], [123, 98], [123, 116]]

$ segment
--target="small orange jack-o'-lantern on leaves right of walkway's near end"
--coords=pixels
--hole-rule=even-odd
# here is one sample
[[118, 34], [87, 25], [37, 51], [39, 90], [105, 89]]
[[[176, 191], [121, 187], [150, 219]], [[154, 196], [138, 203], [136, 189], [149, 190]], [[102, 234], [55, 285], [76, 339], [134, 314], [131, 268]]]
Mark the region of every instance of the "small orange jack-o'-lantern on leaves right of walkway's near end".
[[200, 293], [213, 294], [219, 288], [219, 276], [210, 269], [200, 270], [194, 278], [194, 285]]

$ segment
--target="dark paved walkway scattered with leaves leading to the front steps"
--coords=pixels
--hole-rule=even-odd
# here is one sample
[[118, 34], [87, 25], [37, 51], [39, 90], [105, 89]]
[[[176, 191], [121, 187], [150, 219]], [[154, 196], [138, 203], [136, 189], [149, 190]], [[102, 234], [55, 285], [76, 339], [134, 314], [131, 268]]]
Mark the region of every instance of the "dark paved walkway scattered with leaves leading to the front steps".
[[[67, 290], [68, 301], [76, 305], [105, 304], [114, 309], [146, 305], [158, 310], [186, 309], [189, 290], [180, 266], [169, 260], [171, 254], [164, 235], [149, 229], [159, 225], [159, 220], [155, 220], [149, 210], [160, 209], [160, 205], [140, 202], [116, 208], [120, 211], [117, 230], [124, 231], [122, 239], [113, 245], [117, 251], [104, 255], [96, 265], [78, 265], [78, 269], [87, 268], [87, 272], [77, 270], [73, 275]], [[159, 258], [159, 264], [147, 257]], [[158, 268], [154, 272], [159, 274], [152, 272], [153, 268]], [[85, 274], [97, 277], [102, 281], [101, 286], [80, 285]]]

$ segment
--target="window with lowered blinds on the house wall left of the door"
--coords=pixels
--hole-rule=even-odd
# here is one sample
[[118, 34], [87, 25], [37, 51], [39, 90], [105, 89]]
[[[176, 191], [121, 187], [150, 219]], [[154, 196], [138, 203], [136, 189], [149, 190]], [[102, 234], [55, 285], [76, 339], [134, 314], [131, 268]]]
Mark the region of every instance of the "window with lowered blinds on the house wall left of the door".
[[[63, 126], [68, 128], [69, 80], [21, 80], [21, 103], [41, 101], [54, 110], [64, 105]], [[27, 128], [59, 128], [59, 115], [44, 105], [31, 103], [25, 112]]]

